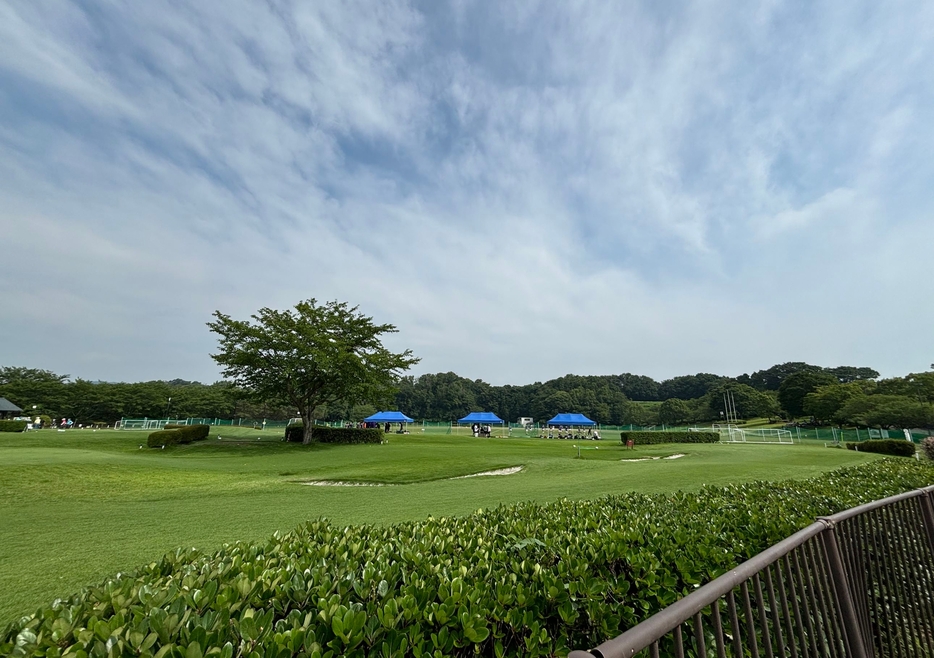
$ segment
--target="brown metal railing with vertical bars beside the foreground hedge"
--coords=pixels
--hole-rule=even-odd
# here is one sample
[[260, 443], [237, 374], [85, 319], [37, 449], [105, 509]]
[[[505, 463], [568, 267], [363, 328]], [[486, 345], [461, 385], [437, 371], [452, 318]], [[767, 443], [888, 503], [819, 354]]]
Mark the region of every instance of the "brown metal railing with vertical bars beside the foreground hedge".
[[569, 658], [934, 657], [934, 486], [821, 517]]

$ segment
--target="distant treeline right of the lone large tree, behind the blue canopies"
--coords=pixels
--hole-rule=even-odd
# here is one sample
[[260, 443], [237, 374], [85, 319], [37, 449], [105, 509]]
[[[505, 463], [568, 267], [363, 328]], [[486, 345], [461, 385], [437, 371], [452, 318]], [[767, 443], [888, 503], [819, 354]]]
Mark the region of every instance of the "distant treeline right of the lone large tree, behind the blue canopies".
[[[729, 392], [740, 419], [804, 418], [870, 427], [934, 425], [934, 372], [877, 381], [872, 368], [781, 363], [739, 377], [712, 373], [656, 381], [645, 375], [566, 375], [524, 386], [493, 386], [453, 372], [405, 377], [396, 408], [419, 420], [450, 422], [492, 411], [516, 422], [579, 412], [608, 425], [679, 425], [723, 420]], [[332, 407], [328, 419], [357, 418], [371, 407]]]

